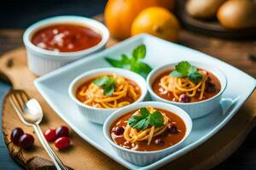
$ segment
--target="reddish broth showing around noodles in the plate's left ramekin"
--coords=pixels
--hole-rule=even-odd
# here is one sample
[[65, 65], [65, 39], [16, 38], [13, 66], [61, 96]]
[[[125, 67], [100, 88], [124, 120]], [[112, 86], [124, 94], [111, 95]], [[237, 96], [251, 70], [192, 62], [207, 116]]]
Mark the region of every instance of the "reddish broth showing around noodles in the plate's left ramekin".
[[[87, 82], [84, 82], [82, 85], [79, 86], [79, 88], [77, 89], [77, 92], [76, 92], [76, 97], [77, 97], [77, 99], [79, 99], [79, 101], [84, 102], [86, 100], [86, 98], [84, 96], [79, 95], [79, 92], [81, 91], [81, 89], [84, 86], [88, 87], [90, 85], [90, 83], [93, 82], [94, 80], [95, 80], [95, 78], [93, 78], [93, 79], [91, 79], [91, 80], [89, 80]], [[137, 85], [136, 82], [133, 82], [133, 81], [127, 79], [127, 78], [125, 78], [125, 81], [127, 81], [132, 87], [134, 87], [136, 94], [138, 94], [139, 96], [141, 95], [141, 89], [139, 88], [139, 86]], [[128, 101], [129, 103], [133, 103], [134, 102], [132, 97], [129, 96], [129, 95], [127, 95], [127, 96], [125, 96], [125, 97], [123, 97], [121, 99], [118, 99], [117, 102], [119, 103], [119, 102], [123, 102], [123, 101]]]

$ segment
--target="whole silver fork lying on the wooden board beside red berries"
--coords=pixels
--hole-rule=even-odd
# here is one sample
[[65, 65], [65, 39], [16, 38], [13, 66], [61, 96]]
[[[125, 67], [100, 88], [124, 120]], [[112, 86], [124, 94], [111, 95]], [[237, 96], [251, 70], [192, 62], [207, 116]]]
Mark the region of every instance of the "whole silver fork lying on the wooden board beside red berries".
[[10, 104], [14, 107], [17, 115], [20, 117], [21, 122], [27, 126], [32, 126], [38, 135], [38, 139], [44, 146], [44, 149], [48, 153], [50, 159], [55, 164], [58, 170], [68, 170], [68, 168], [62, 163], [60, 158], [56, 156], [54, 150], [52, 150], [44, 139], [39, 123], [43, 119], [43, 111], [36, 99], [30, 99], [24, 90], [11, 90], [8, 95]]

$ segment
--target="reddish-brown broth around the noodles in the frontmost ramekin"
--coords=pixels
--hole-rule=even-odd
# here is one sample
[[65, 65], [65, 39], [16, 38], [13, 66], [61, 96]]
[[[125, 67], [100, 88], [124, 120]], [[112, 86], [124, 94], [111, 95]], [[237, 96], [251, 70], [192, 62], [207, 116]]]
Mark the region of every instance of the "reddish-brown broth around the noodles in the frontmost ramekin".
[[[183, 120], [179, 116], [172, 113], [171, 111], [165, 111], [165, 110], [161, 110], [161, 109], [157, 109], [157, 108], [155, 108], [155, 110], [165, 113], [166, 116], [168, 116], [171, 120], [170, 124], [175, 125], [177, 127], [178, 133], [164, 132], [164, 133], [160, 134], [159, 136], [154, 137], [149, 145], [148, 145], [148, 141], [138, 141], [135, 144], [126, 142], [124, 136], [116, 135], [113, 132], [113, 129], [115, 127], [124, 127], [125, 128], [127, 121], [132, 116], [132, 114], [135, 112], [135, 111], [131, 111], [131, 112], [125, 114], [124, 116], [121, 116], [115, 122], [113, 122], [113, 125], [110, 127], [109, 133], [110, 133], [111, 138], [113, 139], [114, 143], [119, 144], [122, 147], [125, 146], [125, 148], [130, 149], [130, 150], [153, 151], [153, 150], [163, 150], [163, 149], [170, 147], [174, 144], [177, 144], [179, 141], [181, 141], [186, 133], [186, 126], [185, 126], [185, 123], [183, 122]], [[154, 140], [158, 139], [158, 138], [163, 139], [163, 141], [164, 141], [163, 145], [154, 144]]]

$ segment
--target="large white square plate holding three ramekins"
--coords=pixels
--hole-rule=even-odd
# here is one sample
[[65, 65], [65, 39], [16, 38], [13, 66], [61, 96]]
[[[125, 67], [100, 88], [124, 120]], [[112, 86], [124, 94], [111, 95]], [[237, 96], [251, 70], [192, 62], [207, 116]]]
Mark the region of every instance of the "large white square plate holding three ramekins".
[[[88, 122], [84, 116], [80, 115], [67, 92], [69, 83], [81, 73], [99, 67], [109, 67], [110, 65], [105, 61], [104, 57], [119, 58], [120, 54], [131, 54], [132, 49], [141, 43], [147, 46], [145, 62], [152, 67], [181, 60], [200, 61], [218, 67], [218, 69], [225, 73], [228, 80], [228, 86], [224, 91], [220, 106], [215, 111], [212, 111], [211, 114], [193, 121], [193, 130], [183, 148], [146, 167], [138, 167], [120, 158], [104, 139], [102, 126]], [[230, 121], [232, 116], [236, 114], [236, 111], [252, 94], [255, 84], [256, 81], [253, 77], [221, 60], [149, 35], [131, 37], [124, 42], [118, 43], [113, 48], [108, 48], [98, 54], [79, 59], [35, 81], [35, 85], [44, 99], [79, 136], [104, 154], [113, 158], [113, 160], [130, 169], [155, 169], [195, 149], [195, 147], [212, 137], [213, 134], [217, 133], [221, 127], [224, 127]]]

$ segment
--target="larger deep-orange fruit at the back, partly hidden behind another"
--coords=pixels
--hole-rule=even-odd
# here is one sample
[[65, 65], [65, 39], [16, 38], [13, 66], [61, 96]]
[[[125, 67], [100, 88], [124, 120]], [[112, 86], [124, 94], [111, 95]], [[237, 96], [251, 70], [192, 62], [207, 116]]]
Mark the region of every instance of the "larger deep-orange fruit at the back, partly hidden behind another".
[[113, 37], [125, 39], [131, 36], [131, 23], [144, 8], [160, 6], [172, 9], [174, 0], [108, 0], [105, 7], [105, 23]]

